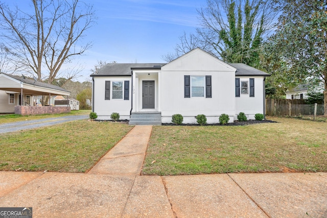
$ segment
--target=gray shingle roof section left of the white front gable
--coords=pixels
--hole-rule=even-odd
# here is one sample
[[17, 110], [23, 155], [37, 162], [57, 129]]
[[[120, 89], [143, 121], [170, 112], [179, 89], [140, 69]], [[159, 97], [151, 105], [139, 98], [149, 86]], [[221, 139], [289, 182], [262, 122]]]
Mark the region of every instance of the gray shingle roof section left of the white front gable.
[[131, 76], [131, 68], [158, 68], [164, 65], [165, 63], [110, 63], [101, 67], [98, 72], [95, 72], [90, 76]]

